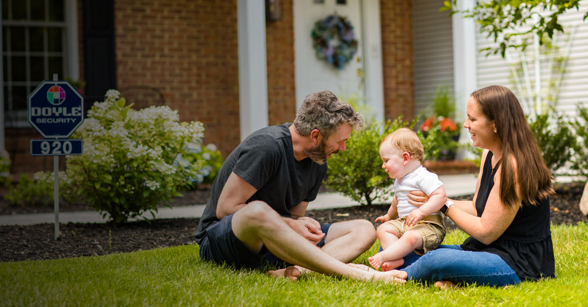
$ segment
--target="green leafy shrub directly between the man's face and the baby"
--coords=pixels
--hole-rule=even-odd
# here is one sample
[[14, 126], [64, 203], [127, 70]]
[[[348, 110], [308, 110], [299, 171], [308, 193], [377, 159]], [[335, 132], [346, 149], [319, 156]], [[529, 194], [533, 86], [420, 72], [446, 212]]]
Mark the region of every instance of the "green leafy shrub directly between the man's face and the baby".
[[347, 149], [329, 159], [325, 185], [361, 204], [370, 205], [376, 198], [387, 201], [393, 195], [390, 190], [394, 180], [382, 169], [380, 142], [396, 129], [414, 126], [415, 122], [398, 117], [393, 122], [373, 122], [362, 131], [353, 131]]

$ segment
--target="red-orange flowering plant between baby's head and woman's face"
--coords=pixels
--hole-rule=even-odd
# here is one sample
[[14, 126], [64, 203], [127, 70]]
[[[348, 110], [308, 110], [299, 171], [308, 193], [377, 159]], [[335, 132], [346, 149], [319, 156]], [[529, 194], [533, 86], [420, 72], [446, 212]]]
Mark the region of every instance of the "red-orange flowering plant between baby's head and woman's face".
[[460, 145], [459, 130], [453, 120], [439, 116], [429, 117], [420, 126], [423, 133], [423, 146], [425, 157], [423, 160], [444, 161], [453, 160]]

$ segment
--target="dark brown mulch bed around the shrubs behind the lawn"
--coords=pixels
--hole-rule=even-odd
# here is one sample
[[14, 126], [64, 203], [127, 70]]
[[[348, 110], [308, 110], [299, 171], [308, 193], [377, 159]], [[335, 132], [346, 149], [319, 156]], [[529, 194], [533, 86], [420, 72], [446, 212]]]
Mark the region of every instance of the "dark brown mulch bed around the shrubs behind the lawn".
[[[556, 187], [551, 200], [551, 220], [554, 224], [588, 222], [588, 216], [580, 212], [578, 203], [584, 184], [565, 184]], [[210, 190], [201, 187], [188, 191], [182, 198], [174, 198], [172, 206], [205, 204]], [[459, 199], [472, 199], [465, 195]], [[88, 210], [84, 205], [60, 208], [60, 211]], [[373, 222], [384, 214], [387, 205], [359, 205], [327, 210], [309, 210], [307, 215], [321, 224], [364, 219]], [[52, 207], [16, 207], [0, 200], [0, 214], [53, 212]], [[128, 222], [121, 225], [95, 223], [68, 223], [59, 226], [60, 235], [54, 240], [53, 224], [26, 226], [0, 226], [0, 261], [24, 261], [37, 259], [71, 258], [89, 255], [105, 255], [113, 252], [131, 252], [139, 249], [173, 247], [193, 244], [193, 234], [198, 218], [173, 218]], [[455, 227], [449, 219], [447, 227]], [[377, 223], [379, 224], [379, 223]]]

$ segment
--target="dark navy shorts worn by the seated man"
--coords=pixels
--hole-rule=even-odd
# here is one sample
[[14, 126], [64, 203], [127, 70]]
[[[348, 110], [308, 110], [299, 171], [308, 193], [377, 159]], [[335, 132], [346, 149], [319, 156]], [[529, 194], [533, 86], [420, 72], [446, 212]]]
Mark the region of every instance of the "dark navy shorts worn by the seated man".
[[[273, 255], [265, 245], [263, 245], [259, 254], [249, 251], [245, 244], [239, 241], [233, 233], [231, 227], [232, 220], [233, 214], [223, 217], [222, 220], [214, 222], [206, 228], [206, 235], [202, 239], [199, 249], [200, 259], [218, 264], [226, 262], [226, 264], [235, 266], [235, 268], [255, 268], [266, 262], [279, 268], [286, 268], [292, 265]], [[320, 225], [320, 230], [325, 233], [325, 237], [330, 225]], [[323, 247], [325, 245], [325, 237], [316, 246]]]

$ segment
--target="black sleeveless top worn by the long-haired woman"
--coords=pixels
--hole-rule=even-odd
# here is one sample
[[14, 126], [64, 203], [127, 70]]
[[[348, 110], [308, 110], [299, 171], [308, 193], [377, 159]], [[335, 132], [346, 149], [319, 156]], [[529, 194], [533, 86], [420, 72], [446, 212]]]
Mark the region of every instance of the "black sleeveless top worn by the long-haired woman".
[[[477, 216], [481, 217], [490, 190], [494, 186], [492, 151], [486, 156], [476, 198]], [[496, 167], [497, 168], [497, 167]], [[521, 279], [555, 277], [555, 260], [549, 224], [549, 197], [537, 199], [538, 205], [523, 203], [515, 220], [496, 241], [489, 245], [469, 237], [461, 245], [465, 251], [499, 255]]]

